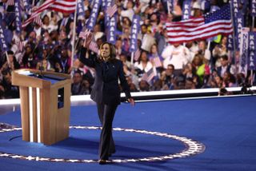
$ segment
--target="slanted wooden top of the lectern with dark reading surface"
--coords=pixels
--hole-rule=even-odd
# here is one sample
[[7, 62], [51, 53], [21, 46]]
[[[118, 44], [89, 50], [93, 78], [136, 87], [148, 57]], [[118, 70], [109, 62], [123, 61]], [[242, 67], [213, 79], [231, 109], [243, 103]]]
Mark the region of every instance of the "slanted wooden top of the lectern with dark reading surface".
[[71, 83], [69, 74], [52, 71], [20, 69], [12, 72], [12, 84], [18, 86], [30, 86], [40, 89], [50, 89], [51, 86]]

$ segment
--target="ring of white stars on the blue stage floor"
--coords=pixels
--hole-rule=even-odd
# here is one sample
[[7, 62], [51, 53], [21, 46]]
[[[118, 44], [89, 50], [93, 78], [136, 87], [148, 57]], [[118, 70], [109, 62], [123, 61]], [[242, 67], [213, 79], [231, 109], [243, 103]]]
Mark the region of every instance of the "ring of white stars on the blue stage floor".
[[[98, 126], [70, 126], [70, 129], [101, 129]], [[181, 141], [185, 146], [186, 149], [183, 149], [180, 153], [169, 154], [166, 156], [157, 156], [157, 157], [143, 157], [143, 158], [128, 158], [128, 159], [114, 159], [108, 162], [114, 163], [124, 163], [124, 162], [139, 162], [139, 161], [166, 161], [172, 160], [176, 158], [182, 157], [190, 157], [192, 155], [196, 155], [198, 153], [204, 152], [206, 149], [205, 145], [201, 142], [194, 141], [187, 137], [179, 137], [176, 135], [171, 135], [169, 133], [160, 133], [160, 132], [153, 132], [153, 131], [146, 131], [140, 129], [124, 129], [124, 128], [113, 128], [115, 131], [126, 131], [131, 133], [145, 133], [159, 137], [166, 137], [170, 139], [174, 139], [177, 141]], [[22, 128], [13, 128], [13, 129], [2, 129], [0, 133], [10, 132], [22, 130]], [[50, 157], [33, 157], [33, 156], [22, 156], [19, 154], [14, 153], [5, 153], [0, 151], [0, 157], [9, 157], [14, 159], [23, 159], [28, 161], [53, 161], [53, 162], [71, 162], [71, 163], [95, 163], [98, 160], [88, 160], [88, 159], [66, 159], [66, 158], [50, 158]]]

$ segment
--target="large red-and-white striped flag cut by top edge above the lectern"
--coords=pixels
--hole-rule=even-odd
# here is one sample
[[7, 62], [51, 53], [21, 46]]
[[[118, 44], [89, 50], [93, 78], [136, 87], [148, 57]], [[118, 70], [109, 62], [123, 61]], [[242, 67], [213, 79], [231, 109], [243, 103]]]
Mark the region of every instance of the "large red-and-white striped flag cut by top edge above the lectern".
[[46, 9], [56, 10], [63, 13], [73, 13], [75, 11], [75, 3], [76, 0], [46, 0], [46, 2], [39, 6], [37, 10], [34, 10], [30, 18], [22, 24], [22, 27], [29, 25], [30, 22], [34, 21], [34, 18], [38, 17], [38, 15]]

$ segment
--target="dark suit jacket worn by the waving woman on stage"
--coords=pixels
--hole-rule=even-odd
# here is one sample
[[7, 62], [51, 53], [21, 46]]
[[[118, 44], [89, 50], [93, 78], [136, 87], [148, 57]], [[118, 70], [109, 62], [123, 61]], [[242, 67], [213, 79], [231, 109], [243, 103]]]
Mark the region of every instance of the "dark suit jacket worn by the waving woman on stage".
[[122, 89], [126, 93], [126, 98], [130, 98], [130, 88], [126, 82], [123, 72], [122, 62], [114, 59], [111, 62], [102, 62], [97, 58], [97, 54], [91, 54], [90, 58], [85, 58], [86, 49], [82, 48], [80, 61], [86, 66], [95, 69], [95, 80], [92, 85], [90, 98], [97, 102], [103, 102], [106, 105], [119, 105], [121, 102], [120, 87], [118, 79], [120, 79]]

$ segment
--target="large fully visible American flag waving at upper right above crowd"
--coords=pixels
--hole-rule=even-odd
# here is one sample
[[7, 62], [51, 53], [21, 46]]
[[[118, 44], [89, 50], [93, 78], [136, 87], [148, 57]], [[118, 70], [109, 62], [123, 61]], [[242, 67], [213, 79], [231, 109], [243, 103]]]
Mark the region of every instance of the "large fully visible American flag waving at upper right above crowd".
[[196, 41], [218, 34], [232, 34], [230, 5], [222, 6], [220, 10], [206, 14], [205, 18], [166, 23], [166, 30], [170, 43]]

